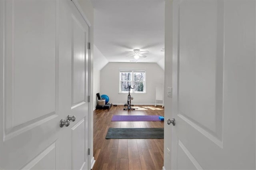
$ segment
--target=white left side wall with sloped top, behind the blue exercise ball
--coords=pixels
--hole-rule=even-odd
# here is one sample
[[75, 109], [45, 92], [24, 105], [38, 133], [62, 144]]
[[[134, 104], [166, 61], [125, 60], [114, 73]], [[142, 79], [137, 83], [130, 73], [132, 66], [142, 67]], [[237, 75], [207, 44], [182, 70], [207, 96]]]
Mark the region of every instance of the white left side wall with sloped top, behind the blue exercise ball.
[[108, 63], [108, 60], [94, 45], [94, 63], [93, 63], [93, 107], [96, 108], [96, 93], [100, 93], [100, 70]]

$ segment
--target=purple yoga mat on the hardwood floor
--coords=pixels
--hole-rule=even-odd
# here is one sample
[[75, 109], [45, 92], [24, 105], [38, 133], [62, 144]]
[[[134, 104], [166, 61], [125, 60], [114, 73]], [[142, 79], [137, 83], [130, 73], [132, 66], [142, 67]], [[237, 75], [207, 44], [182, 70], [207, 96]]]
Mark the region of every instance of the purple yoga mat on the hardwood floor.
[[113, 115], [111, 121], [160, 121], [158, 115]]

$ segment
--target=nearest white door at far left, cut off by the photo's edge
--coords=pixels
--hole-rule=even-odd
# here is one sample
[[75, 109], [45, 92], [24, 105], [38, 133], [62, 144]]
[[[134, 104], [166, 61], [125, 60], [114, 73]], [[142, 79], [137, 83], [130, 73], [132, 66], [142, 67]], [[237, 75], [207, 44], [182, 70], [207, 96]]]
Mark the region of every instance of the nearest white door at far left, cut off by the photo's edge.
[[[56, 168], [59, 144], [56, 132], [61, 117], [56, 65], [57, 3], [0, 3], [4, 7], [1, 21], [5, 21], [1, 32], [4, 34], [1, 168], [39, 168], [46, 160], [52, 162], [41, 168]], [[44, 20], [48, 21], [47, 26]]]

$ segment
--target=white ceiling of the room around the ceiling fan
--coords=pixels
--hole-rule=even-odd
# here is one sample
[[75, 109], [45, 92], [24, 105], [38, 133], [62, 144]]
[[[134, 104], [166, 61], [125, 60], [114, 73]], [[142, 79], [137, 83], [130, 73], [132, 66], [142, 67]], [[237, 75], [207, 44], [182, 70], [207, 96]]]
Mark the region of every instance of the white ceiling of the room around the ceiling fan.
[[149, 51], [138, 62], [164, 57], [164, 0], [92, 0], [94, 45], [109, 62], [136, 60], [132, 51]]

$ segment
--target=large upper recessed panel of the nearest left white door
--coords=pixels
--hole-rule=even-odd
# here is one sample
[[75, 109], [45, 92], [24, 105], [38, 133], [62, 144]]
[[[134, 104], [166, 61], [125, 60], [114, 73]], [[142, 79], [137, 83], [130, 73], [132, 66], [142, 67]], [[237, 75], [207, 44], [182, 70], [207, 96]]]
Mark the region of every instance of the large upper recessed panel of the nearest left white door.
[[[12, 108], [6, 108], [11, 112], [6, 114], [6, 128], [9, 128], [9, 121], [16, 127], [56, 112], [56, 2], [14, 1], [6, 2], [6, 5], [10, 6], [6, 17], [12, 18], [12, 22], [5, 22], [6, 32], [10, 31], [9, 35], [12, 35], [8, 40], [10, 43], [6, 43], [6, 48], [10, 49], [6, 50], [6, 56], [12, 56], [12, 61], [6, 63], [12, 68], [6, 75], [12, 77]], [[31, 15], [33, 11], [37, 13]], [[48, 21], [47, 26], [42, 20]], [[33, 84], [29, 83], [31, 79]], [[20, 114], [24, 112], [26, 116]]]

